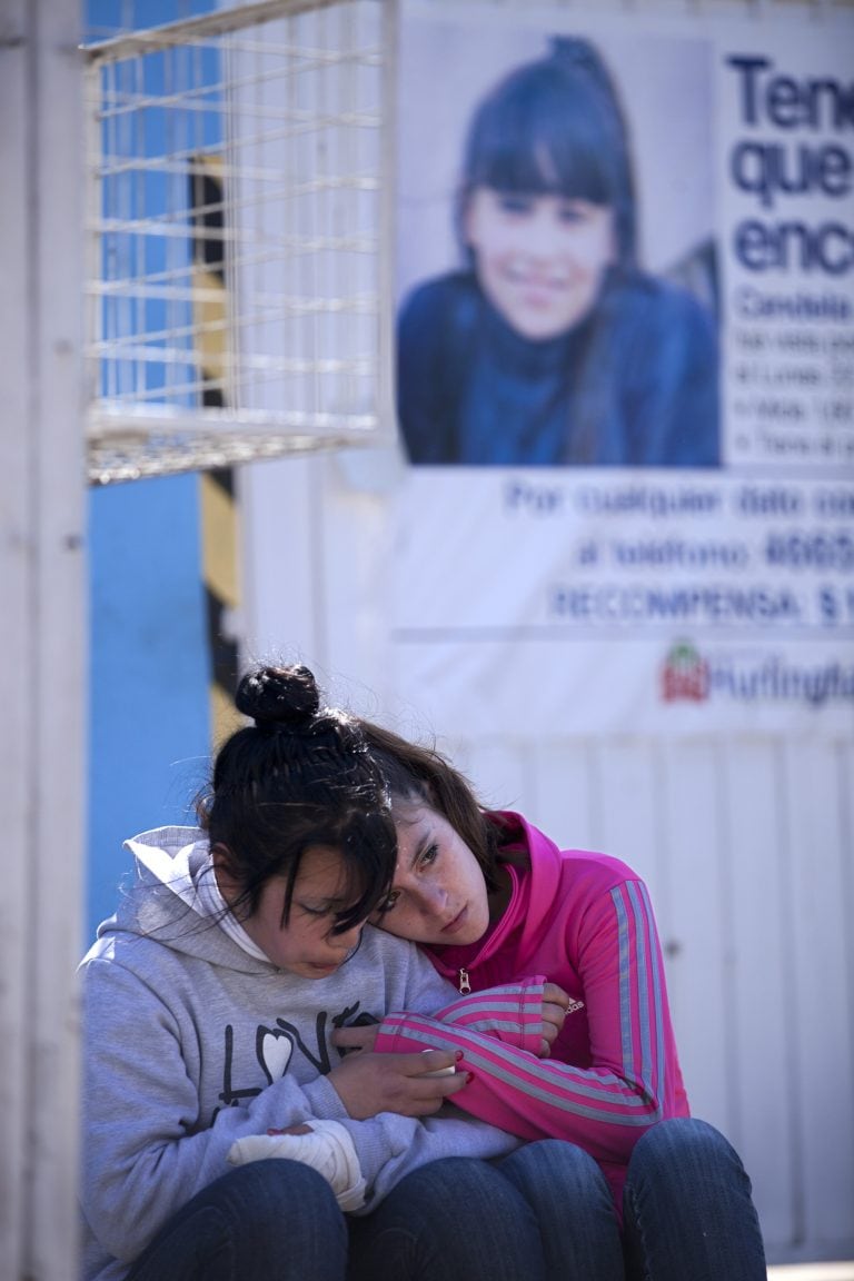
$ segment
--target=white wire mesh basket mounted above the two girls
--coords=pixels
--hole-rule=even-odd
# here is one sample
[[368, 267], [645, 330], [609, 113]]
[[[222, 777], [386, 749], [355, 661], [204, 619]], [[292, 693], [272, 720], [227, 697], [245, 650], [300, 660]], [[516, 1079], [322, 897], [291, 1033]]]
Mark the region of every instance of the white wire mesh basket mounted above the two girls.
[[382, 0], [269, 0], [87, 49], [90, 479], [371, 441]]

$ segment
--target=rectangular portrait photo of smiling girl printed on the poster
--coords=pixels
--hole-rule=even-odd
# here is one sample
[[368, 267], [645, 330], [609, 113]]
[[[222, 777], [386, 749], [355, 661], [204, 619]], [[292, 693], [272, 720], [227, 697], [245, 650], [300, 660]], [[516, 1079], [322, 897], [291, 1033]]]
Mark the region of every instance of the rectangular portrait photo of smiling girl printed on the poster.
[[421, 22], [398, 94], [408, 461], [720, 466], [704, 44]]

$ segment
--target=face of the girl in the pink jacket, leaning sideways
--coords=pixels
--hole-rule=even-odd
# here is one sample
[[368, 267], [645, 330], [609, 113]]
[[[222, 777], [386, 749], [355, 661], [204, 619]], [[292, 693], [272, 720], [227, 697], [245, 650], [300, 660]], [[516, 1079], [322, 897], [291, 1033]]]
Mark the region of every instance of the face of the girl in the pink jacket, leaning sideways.
[[387, 910], [389, 934], [434, 947], [476, 943], [489, 925], [487, 881], [469, 845], [424, 804], [394, 804], [397, 866]]

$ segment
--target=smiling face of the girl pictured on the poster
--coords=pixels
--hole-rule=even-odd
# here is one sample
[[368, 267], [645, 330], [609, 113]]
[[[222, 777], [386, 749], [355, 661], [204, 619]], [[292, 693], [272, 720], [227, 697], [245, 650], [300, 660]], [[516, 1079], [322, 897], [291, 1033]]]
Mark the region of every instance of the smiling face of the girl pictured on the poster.
[[584, 320], [616, 260], [613, 211], [566, 196], [476, 187], [465, 236], [484, 293], [534, 342]]

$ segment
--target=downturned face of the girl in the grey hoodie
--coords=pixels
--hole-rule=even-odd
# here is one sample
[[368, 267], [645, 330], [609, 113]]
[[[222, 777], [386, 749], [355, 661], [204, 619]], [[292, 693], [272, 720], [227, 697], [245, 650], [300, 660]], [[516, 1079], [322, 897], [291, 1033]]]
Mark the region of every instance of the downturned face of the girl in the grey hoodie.
[[[218, 872], [220, 890], [228, 885]], [[346, 934], [333, 934], [335, 913], [352, 903], [347, 876], [337, 849], [315, 845], [306, 849], [293, 885], [291, 916], [284, 921], [287, 883], [274, 876], [261, 890], [257, 908], [241, 925], [273, 965], [301, 979], [326, 979], [359, 947], [362, 924]]]

